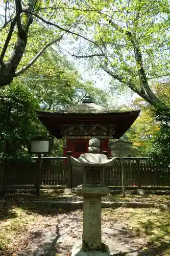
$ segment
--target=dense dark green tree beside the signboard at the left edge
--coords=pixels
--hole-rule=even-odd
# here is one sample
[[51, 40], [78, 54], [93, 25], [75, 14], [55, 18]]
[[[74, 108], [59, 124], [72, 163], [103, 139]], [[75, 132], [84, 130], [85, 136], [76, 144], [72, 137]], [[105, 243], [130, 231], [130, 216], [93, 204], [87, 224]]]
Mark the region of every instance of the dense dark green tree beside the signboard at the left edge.
[[40, 133], [35, 110], [38, 102], [29, 89], [13, 84], [0, 90], [1, 157], [28, 157], [30, 139]]

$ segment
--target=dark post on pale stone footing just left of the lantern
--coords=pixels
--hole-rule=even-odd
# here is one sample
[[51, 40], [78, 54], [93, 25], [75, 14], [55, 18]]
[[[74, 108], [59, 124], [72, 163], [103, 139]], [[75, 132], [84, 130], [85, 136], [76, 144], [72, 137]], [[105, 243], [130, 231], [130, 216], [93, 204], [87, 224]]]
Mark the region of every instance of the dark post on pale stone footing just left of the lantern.
[[71, 168], [71, 151], [67, 151], [67, 179], [66, 179], [66, 188], [65, 194], [71, 194], [72, 188], [72, 168]]

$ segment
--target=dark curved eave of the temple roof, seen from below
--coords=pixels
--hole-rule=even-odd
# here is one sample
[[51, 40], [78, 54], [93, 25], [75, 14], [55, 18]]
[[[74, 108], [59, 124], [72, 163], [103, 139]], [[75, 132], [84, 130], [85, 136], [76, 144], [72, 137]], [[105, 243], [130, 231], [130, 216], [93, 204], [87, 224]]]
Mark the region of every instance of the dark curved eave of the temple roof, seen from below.
[[126, 133], [139, 116], [140, 110], [119, 113], [58, 113], [37, 111], [38, 119], [57, 139], [62, 138], [60, 125], [64, 124], [115, 124], [115, 139]]

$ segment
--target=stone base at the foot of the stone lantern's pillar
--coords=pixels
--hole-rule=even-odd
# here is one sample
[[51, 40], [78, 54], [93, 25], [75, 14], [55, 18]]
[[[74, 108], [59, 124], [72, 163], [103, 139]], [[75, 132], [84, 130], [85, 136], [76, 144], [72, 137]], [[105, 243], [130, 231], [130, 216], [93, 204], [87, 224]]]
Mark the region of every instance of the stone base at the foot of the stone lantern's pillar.
[[75, 244], [72, 248], [71, 256], [110, 256], [109, 247], [102, 243], [101, 251], [83, 251], [82, 242]]

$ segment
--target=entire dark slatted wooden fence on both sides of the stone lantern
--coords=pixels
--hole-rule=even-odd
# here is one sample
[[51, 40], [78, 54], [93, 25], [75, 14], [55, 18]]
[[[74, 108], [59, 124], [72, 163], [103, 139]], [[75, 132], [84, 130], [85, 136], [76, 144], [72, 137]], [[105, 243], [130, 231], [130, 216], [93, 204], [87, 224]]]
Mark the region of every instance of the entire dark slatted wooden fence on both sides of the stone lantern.
[[[72, 187], [83, 182], [83, 169], [72, 167], [68, 172], [68, 157], [42, 157], [40, 185], [66, 185], [67, 174]], [[170, 186], [170, 173], [154, 165], [149, 158], [123, 158], [126, 186]], [[36, 158], [31, 161], [8, 161], [5, 166], [6, 185], [34, 185], [36, 183]], [[120, 159], [106, 169], [107, 185], [121, 186]], [[1, 175], [0, 175], [1, 177]]]

